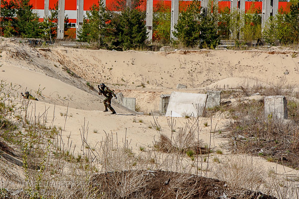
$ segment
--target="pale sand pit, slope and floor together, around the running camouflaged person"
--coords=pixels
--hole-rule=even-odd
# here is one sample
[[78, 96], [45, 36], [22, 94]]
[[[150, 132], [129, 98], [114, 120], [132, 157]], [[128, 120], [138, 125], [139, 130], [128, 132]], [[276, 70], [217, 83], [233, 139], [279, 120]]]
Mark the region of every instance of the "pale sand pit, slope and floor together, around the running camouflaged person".
[[[107, 135], [112, 135], [118, 146], [125, 145], [129, 151], [126, 151], [126, 155], [130, 155], [128, 168], [141, 167], [141, 161], [147, 156], [143, 169], [167, 170], [167, 166], [172, 168], [171, 166], [176, 164], [164, 164], [161, 160], [174, 161], [175, 158], [158, 152], [155, 144], [162, 134], [176, 139], [181, 129], [194, 127], [196, 120], [192, 117], [176, 118], [175, 127], [171, 127], [173, 118], [157, 114], [135, 115], [135, 112], [116, 102], [113, 102], [112, 106], [118, 114], [110, 115], [102, 112], [103, 96], [98, 96], [96, 90], [87, 86], [87, 82], [95, 87], [104, 82], [115, 92], [122, 92], [124, 97], [136, 98], [136, 110], [146, 114], [158, 112], [160, 95], [173, 91], [204, 94], [210, 89], [225, 90], [222, 95], [231, 101], [231, 104], [239, 101], [250, 104], [250, 100], [260, 101], [263, 96], [245, 96], [240, 86], [249, 90], [257, 85], [263, 88], [277, 84], [284, 78], [284, 82], [292, 85], [294, 91], [299, 84], [299, 58], [290, 56], [290, 50], [277, 50], [274, 53], [268, 50], [114, 52], [50, 47], [45, 51], [7, 38], [1, 41], [0, 47], [3, 49], [0, 57], [0, 78], [18, 86], [18, 89], [13, 91], [18, 96], [11, 103], [16, 104], [12, 120], [17, 122], [20, 128], [26, 129], [22, 127], [26, 123], [25, 120], [22, 121], [25, 114], [28, 118], [30, 115], [30, 121], [33, 121], [35, 116], [47, 115], [45, 123], [47, 128], [51, 127], [47, 130], [56, 128], [57, 138], [60, 136], [63, 146], [70, 147], [71, 144], [69, 152], [74, 153], [72, 155], [76, 158], [86, 155], [86, 151], [100, 153], [100, 144]], [[287, 75], [284, 74], [286, 71]], [[187, 85], [187, 89], [175, 89], [178, 83]], [[30, 90], [39, 99], [30, 101], [26, 113], [17, 109], [24, 102], [19, 94], [25, 90]], [[228, 113], [236, 112], [234, 107], [228, 107], [223, 112], [218, 109], [213, 111], [213, 115], [206, 115], [198, 120], [198, 139], [202, 140], [203, 148], [212, 149], [208, 155], [210, 159], [206, 160], [207, 155], [203, 154], [199, 168], [192, 155], [189, 157], [185, 151], [181, 152], [175, 156], [181, 158], [178, 159], [181, 161], [180, 168], [176, 168], [176, 171], [188, 171], [194, 175], [200, 170], [207, 177], [215, 178], [215, 169], [224, 164], [226, 157], [231, 157], [232, 146], [228, 143], [234, 143], [232, 140], [237, 143], [246, 142], [242, 137], [239, 138], [239, 135], [232, 136], [225, 132], [231, 121]], [[84, 139], [83, 131], [86, 133]], [[86, 141], [85, 144], [83, 140]], [[172, 141], [174, 140], [171, 139]], [[257, 153], [259, 150], [260, 148]], [[268, 149], [264, 149], [266, 150]], [[287, 155], [284, 152], [281, 157]], [[251, 166], [258, 166], [264, 173], [269, 173], [265, 178], [275, 175], [280, 180], [292, 179], [296, 184], [297, 170], [278, 164], [278, 161], [248, 154], [245, 157], [251, 158]], [[19, 158], [22, 159], [21, 156]], [[82, 163], [80, 161], [78, 162]], [[103, 168], [104, 163], [101, 162], [96, 171], [104, 171]], [[206, 170], [203, 171], [204, 169]], [[283, 181], [285, 182], [287, 181]], [[260, 187], [262, 188], [264, 187]]]

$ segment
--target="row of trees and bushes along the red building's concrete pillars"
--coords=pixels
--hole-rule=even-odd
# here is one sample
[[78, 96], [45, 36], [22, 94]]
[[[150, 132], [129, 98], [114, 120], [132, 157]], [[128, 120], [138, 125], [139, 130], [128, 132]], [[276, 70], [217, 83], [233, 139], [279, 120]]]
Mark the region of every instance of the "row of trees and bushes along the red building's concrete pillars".
[[[140, 9], [144, 0], [116, 0], [106, 9], [102, 1], [93, 4], [86, 12], [79, 41], [92, 42], [99, 48], [129, 50], [146, 46], [146, 13]], [[216, 1], [215, 1], [216, 2]], [[220, 39], [254, 41], [263, 38], [270, 44], [291, 44], [299, 40], [299, 4], [291, 0], [287, 10], [271, 16], [262, 30], [261, 9], [254, 2], [246, 13], [218, 9], [209, 1], [208, 10], [200, 7], [200, 1], [192, 1], [180, 8], [175, 25], [176, 41], [170, 40], [170, 7], [160, 1], [153, 12], [152, 43], [173, 43], [186, 47], [214, 48]], [[50, 8], [48, 20], [39, 21], [30, 0], [1, 1], [1, 35], [26, 38], [54, 39], [57, 32], [58, 3]], [[110, 8], [111, 7], [111, 8]], [[218, 11], [218, 12], [217, 12]], [[71, 27], [65, 16], [65, 32]]]

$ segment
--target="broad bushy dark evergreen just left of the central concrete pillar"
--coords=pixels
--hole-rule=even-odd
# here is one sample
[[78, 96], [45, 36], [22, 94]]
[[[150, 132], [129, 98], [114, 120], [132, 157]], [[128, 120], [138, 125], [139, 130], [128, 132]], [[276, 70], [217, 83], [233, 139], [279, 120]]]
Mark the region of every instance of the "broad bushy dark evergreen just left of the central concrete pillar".
[[126, 8], [114, 13], [111, 20], [111, 48], [129, 50], [144, 46], [147, 39], [145, 15], [136, 9]]

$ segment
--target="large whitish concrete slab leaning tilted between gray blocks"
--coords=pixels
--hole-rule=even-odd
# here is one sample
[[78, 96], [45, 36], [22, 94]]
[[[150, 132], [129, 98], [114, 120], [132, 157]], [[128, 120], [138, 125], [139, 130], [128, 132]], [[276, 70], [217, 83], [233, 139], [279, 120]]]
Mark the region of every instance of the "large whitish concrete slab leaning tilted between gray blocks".
[[165, 116], [184, 117], [202, 115], [207, 94], [172, 92]]

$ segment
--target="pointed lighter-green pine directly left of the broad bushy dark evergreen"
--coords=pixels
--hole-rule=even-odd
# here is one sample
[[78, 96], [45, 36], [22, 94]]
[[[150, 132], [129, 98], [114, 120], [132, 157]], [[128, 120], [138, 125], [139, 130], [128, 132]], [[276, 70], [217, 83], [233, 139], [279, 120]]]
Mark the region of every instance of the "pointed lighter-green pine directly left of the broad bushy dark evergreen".
[[97, 42], [100, 46], [106, 44], [111, 14], [105, 12], [103, 1], [93, 4], [86, 12], [87, 18], [83, 21], [83, 27], [79, 33], [80, 41]]

